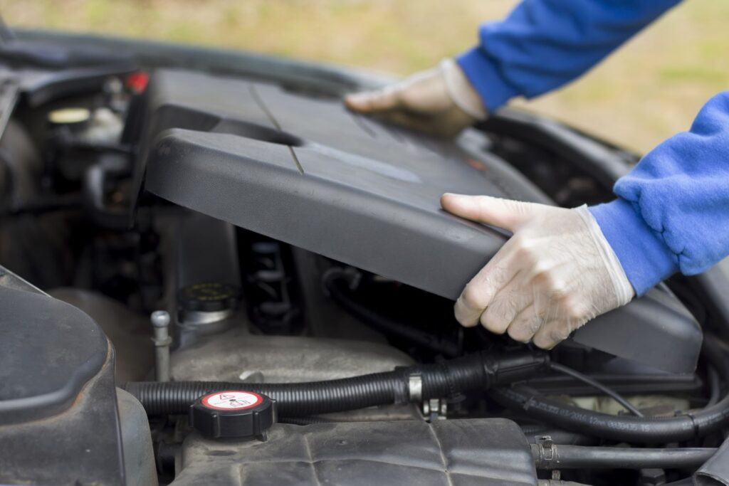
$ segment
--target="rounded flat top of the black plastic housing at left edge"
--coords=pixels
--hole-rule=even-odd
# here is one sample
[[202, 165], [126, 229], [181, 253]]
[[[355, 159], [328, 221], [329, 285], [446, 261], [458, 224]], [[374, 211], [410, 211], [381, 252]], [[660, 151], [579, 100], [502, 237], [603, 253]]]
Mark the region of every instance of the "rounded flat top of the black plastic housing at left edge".
[[56, 415], [106, 361], [104, 333], [44, 294], [0, 287], [0, 423]]

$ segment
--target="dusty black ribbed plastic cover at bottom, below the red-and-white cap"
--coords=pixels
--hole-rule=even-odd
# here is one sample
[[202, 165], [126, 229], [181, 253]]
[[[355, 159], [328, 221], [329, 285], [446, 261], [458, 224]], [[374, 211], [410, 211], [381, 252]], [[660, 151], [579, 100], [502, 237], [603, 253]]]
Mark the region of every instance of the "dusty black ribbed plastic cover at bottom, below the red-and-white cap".
[[537, 485], [526, 437], [502, 418], [276, 424], [266, 442], [182, 447], [174, 486]]

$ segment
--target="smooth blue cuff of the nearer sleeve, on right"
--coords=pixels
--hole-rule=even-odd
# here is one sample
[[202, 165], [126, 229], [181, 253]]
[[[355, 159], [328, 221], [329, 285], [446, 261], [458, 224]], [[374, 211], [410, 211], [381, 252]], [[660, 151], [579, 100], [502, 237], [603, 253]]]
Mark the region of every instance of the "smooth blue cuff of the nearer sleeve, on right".
[[590, 207], [636, 294], [679, 270], [678, 257], [624, 199]]

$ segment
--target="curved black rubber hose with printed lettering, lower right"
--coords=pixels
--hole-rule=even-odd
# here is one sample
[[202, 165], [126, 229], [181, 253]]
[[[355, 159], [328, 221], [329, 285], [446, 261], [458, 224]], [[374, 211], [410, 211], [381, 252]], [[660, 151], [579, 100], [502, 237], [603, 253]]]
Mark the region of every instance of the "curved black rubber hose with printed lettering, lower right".
[[[717, 337], [706, 335], [703, 354], [720, 375], [729, 378], [729, 359]], [[664, 444], [712, 434], [729, 426], [729, 394], [717, 404], [676, 417], [631, 417], [607, 415], [561, 401], [547, 399], [523, 387], [496, 388], [491, 397], [510, 409], [521, 409], [531, 418], [558, 428], [621, 442]]]

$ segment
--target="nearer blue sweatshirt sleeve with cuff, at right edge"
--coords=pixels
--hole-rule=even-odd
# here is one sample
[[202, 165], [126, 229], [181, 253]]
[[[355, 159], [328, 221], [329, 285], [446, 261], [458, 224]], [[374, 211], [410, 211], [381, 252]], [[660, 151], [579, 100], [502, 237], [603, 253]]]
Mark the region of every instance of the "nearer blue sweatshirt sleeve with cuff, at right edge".
[[590, 208], [636, 294], [680, 271], [695, 275], [729, 255], [729, 91], [691, 129], [649, 152]]

